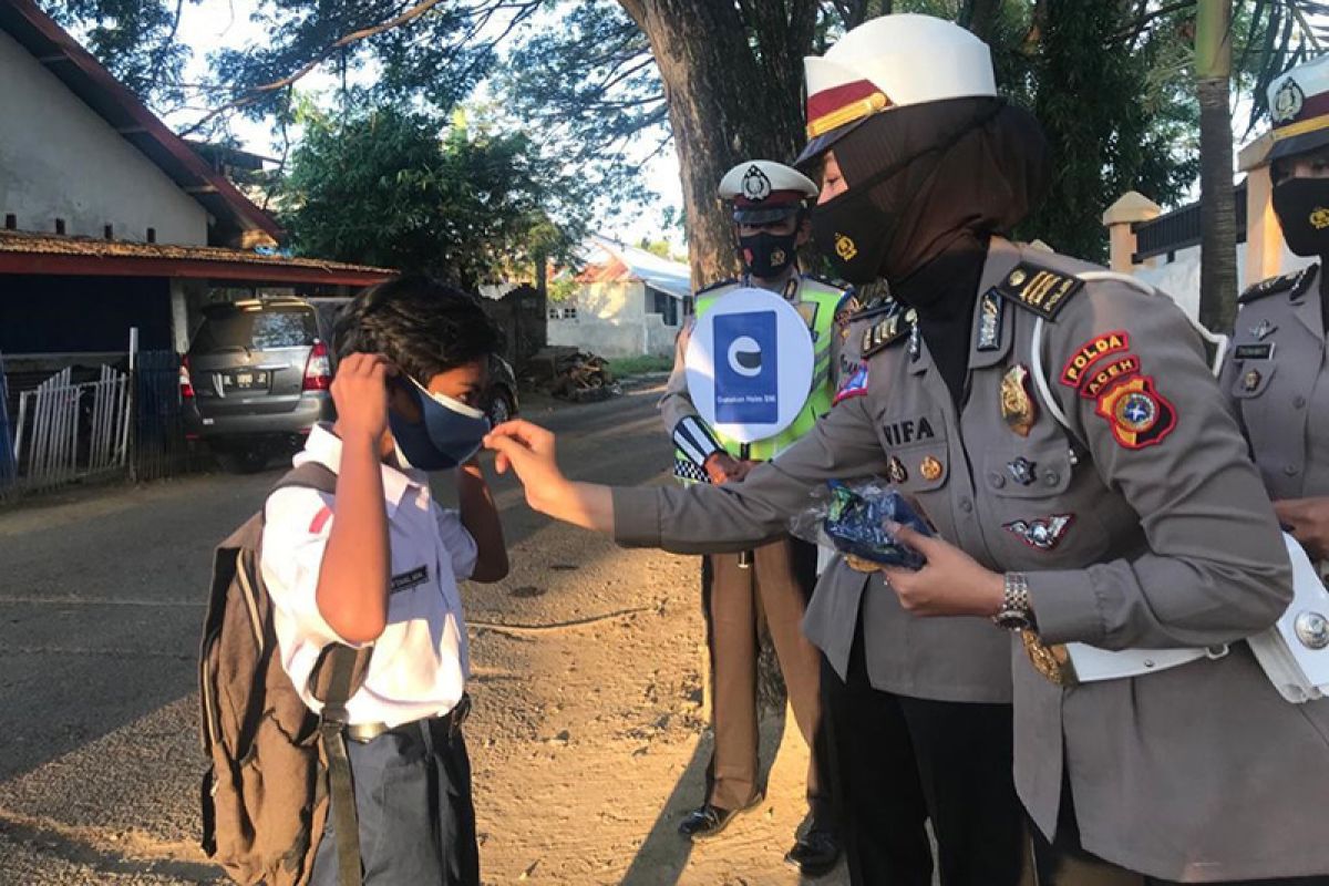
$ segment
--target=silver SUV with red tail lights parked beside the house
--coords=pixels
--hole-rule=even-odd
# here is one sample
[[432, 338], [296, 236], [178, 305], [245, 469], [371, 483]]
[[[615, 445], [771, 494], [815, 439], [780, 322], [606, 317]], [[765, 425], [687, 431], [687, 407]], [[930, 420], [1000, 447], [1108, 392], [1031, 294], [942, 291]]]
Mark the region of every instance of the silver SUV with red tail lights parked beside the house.
[[335, 418], [331, 331], [303, 299], [247, 299], [203, 308], [181, 367], [186, 434], [229, 470], [260, 470]]

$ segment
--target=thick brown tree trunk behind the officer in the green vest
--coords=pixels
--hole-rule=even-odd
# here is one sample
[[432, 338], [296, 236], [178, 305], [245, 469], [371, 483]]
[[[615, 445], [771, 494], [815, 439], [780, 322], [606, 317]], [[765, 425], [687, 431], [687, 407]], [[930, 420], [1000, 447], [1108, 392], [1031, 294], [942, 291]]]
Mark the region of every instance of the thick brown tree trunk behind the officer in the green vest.
[[758, 0], [742, 12], [718, 0], [619, 3], [650, 40], [664, 84], [692, 286], [700, 288], [738, 271], [720, 178], [744, 159], [788, 163], [804, 143], [803, 56], [816, 3]]

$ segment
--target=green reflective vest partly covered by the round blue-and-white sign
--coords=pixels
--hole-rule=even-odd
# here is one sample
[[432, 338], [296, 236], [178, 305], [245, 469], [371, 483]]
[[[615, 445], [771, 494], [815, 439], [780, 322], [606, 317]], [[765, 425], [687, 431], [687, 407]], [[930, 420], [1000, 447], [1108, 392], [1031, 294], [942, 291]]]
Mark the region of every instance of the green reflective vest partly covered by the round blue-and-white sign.
[[[702, 319], [718, 299], [724, 298], [734, 290], [742, 288], [740, 283], [716, 287], [702, 294], [696, 299], [696, 317]], [[776, 294], [779, 295], [779, 294]], [[844, 299], [844, 290], [837, 290], [829, 283], [821, 283], [812, 278], [800, 278], [799, 303], [795, 310], [803, 316], [812, 332], [812, 383], [807, 402], [793, 422], [773, 437], [758, 440], [748, 444], [748, 458], [756, 461], [769, 461], [780, 452], [788, 449], [795, 440], [812, 430], [817, 418], [831, 412], [831, 400], [835, 397], [835, 387], [831, 379], [831, 344], [835, 340], [835, 312]], [[724, 445], [724, 450], [739, 458], [742, 444], [730, 440], [716, 429], [711, 429], [715, 438]], [[675, 457], [687, 461], [682, 450], [675, 450]]]

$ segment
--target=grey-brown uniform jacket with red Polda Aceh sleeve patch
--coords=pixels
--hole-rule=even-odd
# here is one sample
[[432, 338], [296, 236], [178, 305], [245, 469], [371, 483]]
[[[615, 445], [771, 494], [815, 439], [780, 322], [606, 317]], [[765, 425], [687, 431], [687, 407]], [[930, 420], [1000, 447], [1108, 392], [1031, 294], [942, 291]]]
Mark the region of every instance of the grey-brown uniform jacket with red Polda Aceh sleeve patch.
[[[981, 298], [998, 284], [1014, 295], [975, 310], [961, 412], [925, 343], [893, 343], [869, 356], [864, 396], [743, 484], [615, 490], [617, 535], [736, 550], [783, 531], [811, 486], [886, 476], [898, 460], [898, 485], [944, 538], [989, 569], [1029, 574], [1046, 642], [1235, 646], [1219, 660], [1063, 688], [983, 619], [914, 619], [878, 579], [835, 569], [805, 630], [841, 672], [860, 599], [880, 688], [989, 700], [997, 643], [1014, 665], [1017, 789], [1046, 834], [1065, 761], [1083, 846], [1114, 863], [1166, 879], [1326, 873], [1329, 703], [1288, 704], [1237, 643], [1290, 599], [1272, 507], [1180, 310], [1073, 276], [1090, 270], [994, 239]], [[1069, 430], [1023, 377], [1039, 317], [1021, 294], [1053, 313], [1043, 371]]]

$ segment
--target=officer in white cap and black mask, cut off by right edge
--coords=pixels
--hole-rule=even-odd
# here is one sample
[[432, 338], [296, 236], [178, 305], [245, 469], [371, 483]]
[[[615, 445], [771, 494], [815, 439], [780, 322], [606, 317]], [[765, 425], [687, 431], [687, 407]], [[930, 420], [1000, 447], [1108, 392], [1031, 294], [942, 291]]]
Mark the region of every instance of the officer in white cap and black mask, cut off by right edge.
[[[1269, 86], [1273, 210], [1296, 255], [1329, 255], [1329, 57]], [[1278, 519], [1313, 561], [1329, 557], [1329, 360], [1321, 264], [1247, 290], [1223, 391]]]

